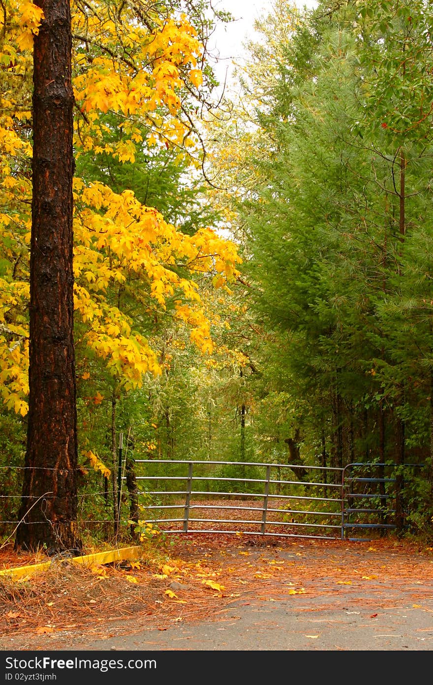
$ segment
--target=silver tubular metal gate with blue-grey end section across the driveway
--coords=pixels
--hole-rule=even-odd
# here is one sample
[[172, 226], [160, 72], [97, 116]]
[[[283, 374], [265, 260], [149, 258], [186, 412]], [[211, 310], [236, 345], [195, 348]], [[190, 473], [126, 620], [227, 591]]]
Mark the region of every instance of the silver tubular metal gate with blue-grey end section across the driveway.
[[365, 540], [368, 532], [397, 527], [403, 467], [395, 464], [135, 464], [140, 519], [166, 534]]

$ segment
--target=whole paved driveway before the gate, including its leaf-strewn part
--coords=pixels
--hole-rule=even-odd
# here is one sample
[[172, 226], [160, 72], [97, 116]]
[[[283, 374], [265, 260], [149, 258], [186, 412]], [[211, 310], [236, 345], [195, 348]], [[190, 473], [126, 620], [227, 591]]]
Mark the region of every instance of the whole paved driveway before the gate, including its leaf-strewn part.
[[[379, 547], [379, 545], [377, 545]], [[432, 547], [428, 547], [432, 550]], [[247, 551], [248, 550], [248, 551]], [[180, 550], [181, 551], [181, 550]], [[367, 544], [287, 543], [281, 547], [198, 548], [196, 555], [233, 572], [280, 571], [256, 593], [248, 584], [239, 597], [211, 612], [176, 619], [138, 615], [51, 635], [10, 634], [0, 650], [62, 651], [431, 651], [433, 649], [433, 551]], [[192, 555], [191, 549], [188, 551]], [[267, 563], [263, 563], [266, 554]], [[242, 556], [248, 555], [248, 556]], [[265, 561], [266, 561], [265, 559]], [[210, 563], [210, 562], [209, 562]], [[291, 566], [289, 565], [291, 564]], [[240, 573], [239, 566], [236, 573]], [[371, 575], [371, 574], [374, 575]], [[351, 580], [347, 580], [351, 579]], [[287, 589], [287, 582], [305, 590]], [[289, 586], [293, 586], [291, 582]], [[187, 596], [194, 590], [188, 590]], [[161, 606], [161, 603], [159, 604]], [[181, 604], [179, 612], [181, 612]], [[162, 618], [161, 618], [162, 616]]]

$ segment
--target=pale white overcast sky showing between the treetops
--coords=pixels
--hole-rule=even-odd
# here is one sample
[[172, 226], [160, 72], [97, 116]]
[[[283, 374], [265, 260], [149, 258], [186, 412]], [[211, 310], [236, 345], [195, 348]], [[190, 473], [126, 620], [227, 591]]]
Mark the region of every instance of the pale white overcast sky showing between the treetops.
[[[306, 5], [315, 7], [315, 0], [299, 0], [298, 7]], [[272, 11], [272, 0], [215, 0], [213, 6], [218, 10], [227, 10], [235, 17], [230, 24], [220, 24], [215, 29], [209, 47], [211, 52], [219, 54], [218, 64], [214, 66], [215, 75], [224, 82], [226, 70], [230, 79], [233, 60], [239, 62], [244, 55], [242, 43], [254, 38], [254, 21], [263, 14]]]

